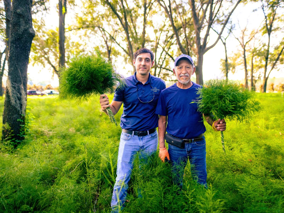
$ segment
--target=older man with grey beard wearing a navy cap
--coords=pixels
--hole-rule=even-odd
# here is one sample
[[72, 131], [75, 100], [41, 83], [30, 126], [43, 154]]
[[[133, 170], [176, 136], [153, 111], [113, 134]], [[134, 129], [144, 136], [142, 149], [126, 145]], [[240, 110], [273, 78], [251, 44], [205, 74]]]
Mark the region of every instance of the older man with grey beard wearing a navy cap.
[[[159, 114], [159, 156], [162, 161], [165, 157], [172, 163], [173, 181], [182, 187], [184, 168], [189, 162], [193, 179], [207, 187], [206, 179], [206, 142], [203, 124], [203, 116], [197, 111], [196, 95], [200, 85], [191, 81], [191, 76], [195, 72], [193, 60], [188, 55], [180, 55], [175, 60], [173, 69], [178, 82], [164, 89], [158, 101], [156, 114]], [[213, 121], [209, 116], [206, 117], [209, 125], [218, 131], [226, 130], [225, 120]], [[168, 122], [168, 124], [167, 124]], [[168, 151], [165, 147], [166, 140], [169, 143]], [[168, 138], [168, 139], [167, 139]], [[180, 147], [177, 147], [179, 146]]]

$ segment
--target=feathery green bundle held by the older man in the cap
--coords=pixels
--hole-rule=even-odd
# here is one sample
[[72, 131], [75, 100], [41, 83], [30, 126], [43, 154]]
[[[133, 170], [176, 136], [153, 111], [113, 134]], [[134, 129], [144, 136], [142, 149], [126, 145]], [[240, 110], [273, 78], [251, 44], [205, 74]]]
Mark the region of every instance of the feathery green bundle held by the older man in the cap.
[[[214, 79], [198, 89], [197, 95], [200, 101], [196, 103], [198, 111], [209, 115], [213, 120], [224, 118], [235, 120], [238, 124], [249, 124], [252, 116], [262, 110], [260, 102], [255, 100], [255, 94], [255, 91], [249, 91], [238, 83]], [[225, 153], [222, 131], [221, 140]]]

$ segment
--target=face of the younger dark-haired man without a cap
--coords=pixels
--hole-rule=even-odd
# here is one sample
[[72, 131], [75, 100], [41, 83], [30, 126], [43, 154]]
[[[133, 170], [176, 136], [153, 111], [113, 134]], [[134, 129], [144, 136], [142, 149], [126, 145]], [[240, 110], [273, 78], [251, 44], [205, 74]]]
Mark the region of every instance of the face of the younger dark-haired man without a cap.
[[136, 68], [136, 72], [140, 75], [148, 75], [154, 61], [151, 61], [150, 53], [141, 53], [137, 56], [136, 60], [133, 60], [133, 65]]

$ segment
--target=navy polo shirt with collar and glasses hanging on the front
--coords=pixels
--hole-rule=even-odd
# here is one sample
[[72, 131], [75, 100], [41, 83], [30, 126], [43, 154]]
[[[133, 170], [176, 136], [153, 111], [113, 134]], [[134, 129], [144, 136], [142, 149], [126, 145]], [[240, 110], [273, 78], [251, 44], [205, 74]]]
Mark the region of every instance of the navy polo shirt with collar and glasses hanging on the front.
[[127, 86], [116, 89], [113, 98], [114, 101], [123, 101], [121, 128], [146, 131], [158, 127], [158, 115], [155, 114], [155, 109], [160, 92], [166, 88], [165, 82], [149, 73], [149, 78], [143, 85], [137, 80], [136, 72], [125, 78], [125, 81]]

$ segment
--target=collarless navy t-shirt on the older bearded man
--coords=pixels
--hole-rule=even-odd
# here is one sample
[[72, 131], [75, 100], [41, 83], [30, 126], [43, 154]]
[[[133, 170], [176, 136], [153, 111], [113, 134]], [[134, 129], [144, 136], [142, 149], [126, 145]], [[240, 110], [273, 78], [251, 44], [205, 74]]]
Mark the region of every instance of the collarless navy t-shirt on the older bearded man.
[[167, 133], [182, 139], [192, 139], [206, 131], [202, 113], [197, 111], [196, 94], [200, 85], [192, 82], [188, 89], [176, 83], [164, 89], [156, 107], [156, 114], [168, 116]]

